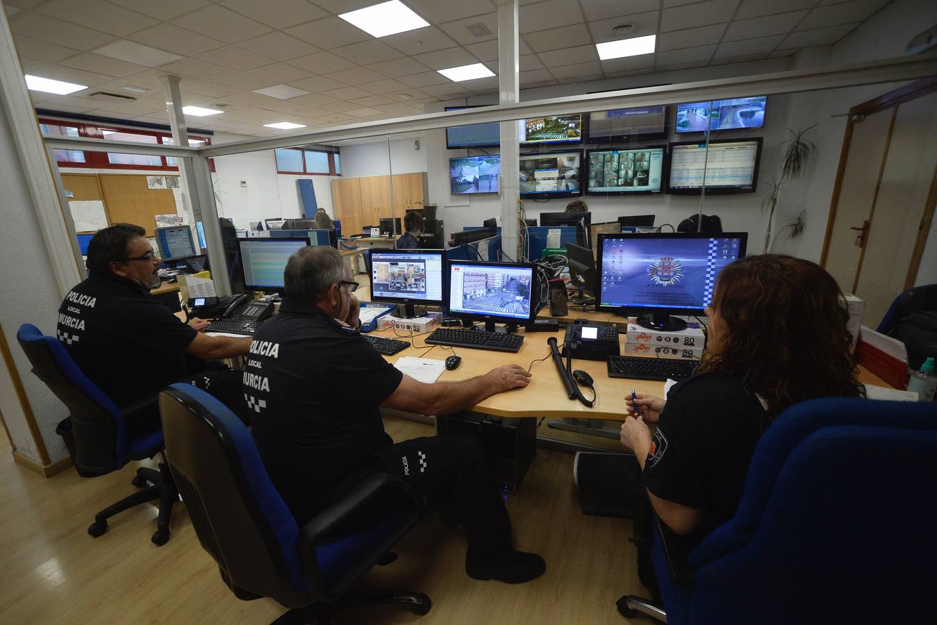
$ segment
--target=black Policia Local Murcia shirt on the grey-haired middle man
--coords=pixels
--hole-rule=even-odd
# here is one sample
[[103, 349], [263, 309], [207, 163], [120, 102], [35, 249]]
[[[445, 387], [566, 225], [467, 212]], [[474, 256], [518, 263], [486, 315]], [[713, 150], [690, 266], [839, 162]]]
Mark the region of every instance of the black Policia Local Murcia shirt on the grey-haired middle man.
[[245, 365], [245, 402], [263, 464], [297, 520], [393, 444], [379, 405], [402, 378], [358, 331], [318, 306], [284, 301], [260, 326]]

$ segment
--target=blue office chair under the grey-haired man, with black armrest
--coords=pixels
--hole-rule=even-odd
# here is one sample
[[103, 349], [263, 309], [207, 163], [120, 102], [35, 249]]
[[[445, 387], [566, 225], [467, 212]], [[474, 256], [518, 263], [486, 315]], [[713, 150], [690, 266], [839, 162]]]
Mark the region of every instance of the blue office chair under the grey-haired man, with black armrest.
[[367, 477], [300, 528], [230, 409], [198, 388], [171, 384], [159, 394], [159, 411], [192, 525], [238, 599], [271, 597], [290, 608], [277, 623], [328, 623], [340, 609], [373, 603], [429, 612], [423, 593], [349, 591], [375, 564], [394, 561], [389, 550], [417, 521], [422, 502], [408, 484], [390, 474]]

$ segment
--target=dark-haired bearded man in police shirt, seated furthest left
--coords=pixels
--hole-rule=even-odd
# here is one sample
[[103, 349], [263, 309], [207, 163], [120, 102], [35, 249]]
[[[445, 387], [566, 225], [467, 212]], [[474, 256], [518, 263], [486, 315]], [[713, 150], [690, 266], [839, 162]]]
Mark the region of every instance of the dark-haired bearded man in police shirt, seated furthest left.
[[[97, 232], [88, 244], [89, 277], [68, 291], [55, 335], [78, 368], [118, 406], [186, 381], [241, 409], [240, 372], [214, 363], [213, 370], [201, 369], [203, 361], [245, 355], [250, 338], [205, 335], [200, 331], [208, 321], [183, 323], [159, 304], [149, 291], [159, 286], [160, 259], [143, 234], [132, 224]], [[159, 426], [155, 403], [127, 423], [134, 434]]]

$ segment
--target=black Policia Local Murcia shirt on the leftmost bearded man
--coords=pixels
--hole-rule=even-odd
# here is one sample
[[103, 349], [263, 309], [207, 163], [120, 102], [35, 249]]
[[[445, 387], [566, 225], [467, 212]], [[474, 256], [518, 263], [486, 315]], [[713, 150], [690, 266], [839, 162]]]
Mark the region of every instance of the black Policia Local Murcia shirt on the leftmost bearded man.
[[69, 290], [55, 328], [78, 368], [118, 406], [186, 377], [184, 350], [197, 334], [119, 275], [93, 275]]

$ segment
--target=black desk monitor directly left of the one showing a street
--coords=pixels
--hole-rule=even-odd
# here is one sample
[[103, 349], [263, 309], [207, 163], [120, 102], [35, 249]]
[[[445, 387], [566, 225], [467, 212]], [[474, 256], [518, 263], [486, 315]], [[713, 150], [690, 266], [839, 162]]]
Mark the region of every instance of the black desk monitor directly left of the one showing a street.
[[418, 316], [414, 305], [443, 305], [445, 260], [441, 249], [375, 247], [370, 254], [371, 301], [396, 304], [405, 319]]

